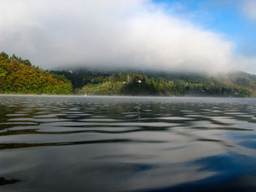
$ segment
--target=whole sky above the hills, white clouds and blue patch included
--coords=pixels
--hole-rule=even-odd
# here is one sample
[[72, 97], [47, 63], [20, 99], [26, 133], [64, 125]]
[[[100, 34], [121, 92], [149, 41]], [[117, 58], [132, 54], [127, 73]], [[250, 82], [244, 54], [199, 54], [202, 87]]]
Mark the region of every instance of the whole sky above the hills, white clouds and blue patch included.
[[256, 74], [254, 0], [0, 0], [0, 51], [43, 69]]

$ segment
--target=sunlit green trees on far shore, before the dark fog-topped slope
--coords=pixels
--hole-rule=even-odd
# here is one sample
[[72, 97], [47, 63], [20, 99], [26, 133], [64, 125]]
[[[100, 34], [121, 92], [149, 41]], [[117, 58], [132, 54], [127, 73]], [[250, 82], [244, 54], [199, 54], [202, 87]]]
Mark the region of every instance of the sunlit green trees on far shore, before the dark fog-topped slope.
[[[242, 73], [241, 73], [242, 74]], [[151, 77], [135, 72], [122, 72], [109, 76], [99, 75], [91, 77], [78, 93], [88, 95], [151, 95], [151, 96], [255, 96], [252, 80], [249, 85], [242, 80], [241, 74], [233, 74], [234, 80], [225, 77]], [[245, 73], [244, 73], [245, 74]], [[241, 80], [238, 80], [238, 79]], [[248, 78], [248, 77], [247, 77]], [[238, 83], [235, 81], [241, 81]], [[246, 84], [246, 86], [244, 85]]]

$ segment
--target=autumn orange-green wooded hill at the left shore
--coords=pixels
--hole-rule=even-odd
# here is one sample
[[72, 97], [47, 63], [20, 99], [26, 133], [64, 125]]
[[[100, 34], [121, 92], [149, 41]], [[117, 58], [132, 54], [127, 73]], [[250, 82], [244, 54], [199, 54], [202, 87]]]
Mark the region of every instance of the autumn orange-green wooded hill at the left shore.
[[69, 94], [72, 84], [64, 75], [32, 66], [29, 60], [0, 53], [0, 93]]

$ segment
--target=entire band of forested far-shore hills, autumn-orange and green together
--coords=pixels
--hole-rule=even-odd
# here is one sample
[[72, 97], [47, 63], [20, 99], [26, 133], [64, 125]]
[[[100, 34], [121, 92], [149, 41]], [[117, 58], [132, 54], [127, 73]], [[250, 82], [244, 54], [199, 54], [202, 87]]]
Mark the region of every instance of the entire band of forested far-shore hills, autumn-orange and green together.
[[0, 53], [0, 93], [131, 96], [256, 96], [256, 75], [45, 71], [29, 60]]

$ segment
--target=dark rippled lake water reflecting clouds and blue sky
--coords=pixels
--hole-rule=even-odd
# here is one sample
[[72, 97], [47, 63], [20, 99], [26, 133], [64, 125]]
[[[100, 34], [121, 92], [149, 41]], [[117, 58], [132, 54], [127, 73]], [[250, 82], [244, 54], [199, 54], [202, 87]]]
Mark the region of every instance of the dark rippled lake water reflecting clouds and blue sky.
[[0, 96], [0, 191], [256, 191], [256, 99]]

